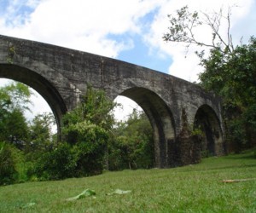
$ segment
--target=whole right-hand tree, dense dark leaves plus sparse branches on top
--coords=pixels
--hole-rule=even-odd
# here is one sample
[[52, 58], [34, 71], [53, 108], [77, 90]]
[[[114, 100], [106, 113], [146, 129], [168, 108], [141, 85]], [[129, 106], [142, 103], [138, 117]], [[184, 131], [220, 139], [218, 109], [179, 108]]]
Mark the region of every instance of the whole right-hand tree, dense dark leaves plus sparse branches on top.
[[[245, 147], [253, 147], [256, 116], [256, 39], [234, 47], [230, 34], [230, 14], [224, 15], [223, 9], [212, 15], [198, 12], [190, 13], [187, 6], [168, 15], [171, 26], [163, 39], [166, 42], [195, 44], [210, 49], [195, 52], [201, 59], [204, 72], [199, 76], [201, 86], [223, 97], [226, 138], [237, 152]], [[200, 16], [202, 15], [202, 16]], [[227, 23], [225, 34], [220, 33], [223, 20]], [[196, 38], [199, 26], [210, 27], [212, 42], [204, 43]]]

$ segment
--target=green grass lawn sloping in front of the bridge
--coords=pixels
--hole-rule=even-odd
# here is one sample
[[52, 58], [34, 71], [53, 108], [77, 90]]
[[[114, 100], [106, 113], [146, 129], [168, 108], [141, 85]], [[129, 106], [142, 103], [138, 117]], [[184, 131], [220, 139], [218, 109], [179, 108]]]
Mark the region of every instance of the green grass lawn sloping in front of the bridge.
[[[253, 178], [256, 158], [247, 152], [174, 169], [123, 170], [0, 187], [0, 212], [256, 212]], [[96, 195], [67, 201], [87, 188]], [[115, 189], [131, 193], [107, 195]]]

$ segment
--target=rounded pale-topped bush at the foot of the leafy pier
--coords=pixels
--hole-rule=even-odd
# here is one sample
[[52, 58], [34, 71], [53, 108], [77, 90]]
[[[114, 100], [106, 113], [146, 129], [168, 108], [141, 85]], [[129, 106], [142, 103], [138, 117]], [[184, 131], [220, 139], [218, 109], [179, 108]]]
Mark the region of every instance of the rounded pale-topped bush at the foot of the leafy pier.
[[70, 124], [63, 130], [68, 143], [73, 146], [77, 163], [76, 176], [92, 176], [102, 173], [103, 158], [108, 144], [108, 131], [84, 120]]

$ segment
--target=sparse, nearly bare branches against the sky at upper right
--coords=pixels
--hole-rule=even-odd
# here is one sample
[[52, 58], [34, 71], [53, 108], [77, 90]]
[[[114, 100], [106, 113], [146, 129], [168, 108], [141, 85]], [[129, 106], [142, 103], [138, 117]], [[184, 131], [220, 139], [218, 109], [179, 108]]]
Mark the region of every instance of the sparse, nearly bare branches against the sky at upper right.
[[[197, 11], [191, 13], [188, 6], [178, 9], [176, 12], [177, 14], [168, 14], [171, 26], [168, 27], [168, 32], [163, 36], [164, 41], [185, 43], [187, 47], [195, 44], [211, 49], [219, 49], [221, 52], [233, 51], [234, 46], [230, 34], [230, 8], [226, 16], [224, 15], [224, 9], [220, 9], [218, 13], [213, 12], [212, 14], [199, 13]], [[225, 36], [219, 30], [223, 20], [228, 25]], [[196, 32], [201, 26], [210, 28], [212, 32], [212, 41], [210, 43], [205, 43], [197, 38]]]

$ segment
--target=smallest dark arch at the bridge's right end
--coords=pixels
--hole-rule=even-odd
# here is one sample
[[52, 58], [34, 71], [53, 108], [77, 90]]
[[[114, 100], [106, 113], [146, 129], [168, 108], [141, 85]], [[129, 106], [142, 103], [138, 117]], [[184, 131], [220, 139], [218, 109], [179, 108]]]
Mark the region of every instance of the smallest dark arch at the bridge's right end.
[[194, 130], [200, 129], [201, 155], [215, 156], [224, 154], [223, 130], [220, 119], [212, 107], [202, 105], [195, 113]]

